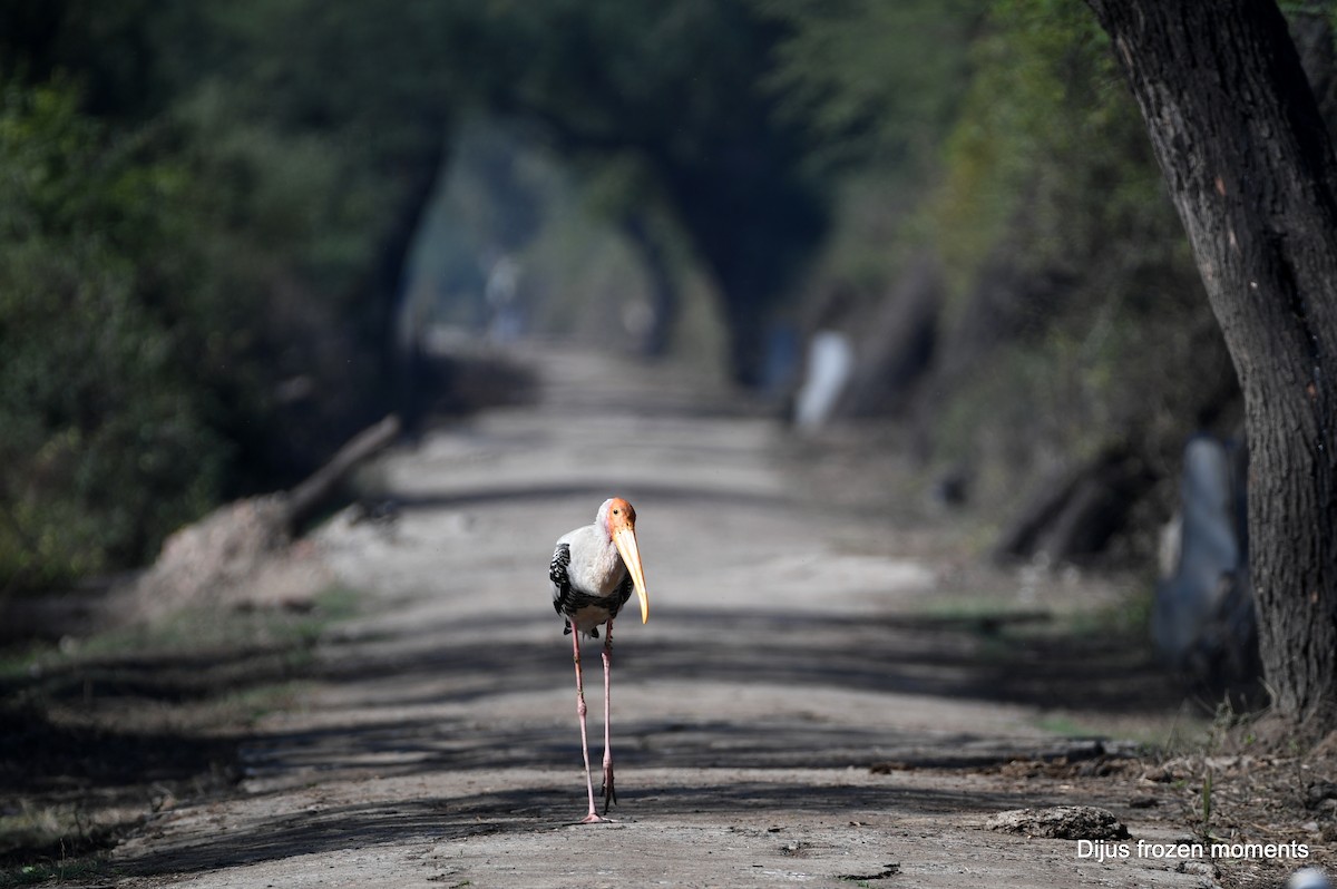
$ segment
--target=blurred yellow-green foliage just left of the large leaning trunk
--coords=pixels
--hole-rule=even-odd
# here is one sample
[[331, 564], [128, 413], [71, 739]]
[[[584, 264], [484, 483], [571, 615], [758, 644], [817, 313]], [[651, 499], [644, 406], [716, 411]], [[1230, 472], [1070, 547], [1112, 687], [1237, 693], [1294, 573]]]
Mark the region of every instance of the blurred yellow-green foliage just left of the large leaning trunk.
[[792, 28], [771, 79], [785, 108], [846, 160], [812, 290], [860, 291], [854, 328], [908, 259], [937, 258], [921, 418], [977, 503], [1012, 509], [1110, 447], [1169, 475], [1187, 433], [1229, 422], [1229, 358], [1082, 0], [758, 4]]

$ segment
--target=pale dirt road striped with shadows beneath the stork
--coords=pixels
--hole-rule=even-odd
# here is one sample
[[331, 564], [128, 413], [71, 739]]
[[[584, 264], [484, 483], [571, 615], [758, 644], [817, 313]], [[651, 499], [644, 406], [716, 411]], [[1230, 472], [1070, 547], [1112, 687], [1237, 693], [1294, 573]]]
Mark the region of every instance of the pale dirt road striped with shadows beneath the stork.
[[[1183, 836], [1147, 819], [1152, 791], [996, 765], [1063, 746], [1042, 727], [1048, 692], [995, 674], [980, 634], [924, 619], [941, 618], [943, 567], [894, 555], [876, 516], [809, 501], [771, 421], [687, 373], [533, 360], [536, 405], [385, 460], [396, 520], [320, 533], [364, 616], [321, 644], [301, 707], [261, 723], [241, 793], [163, 811], [116, 850], [127, 885], [1210, 885], [984, 829], [1094, 803], [1135, 837]], [[618, 822], [580, 826], [545, 572], [612, 493], [639, 513], [650, 622], [616, 626]]]

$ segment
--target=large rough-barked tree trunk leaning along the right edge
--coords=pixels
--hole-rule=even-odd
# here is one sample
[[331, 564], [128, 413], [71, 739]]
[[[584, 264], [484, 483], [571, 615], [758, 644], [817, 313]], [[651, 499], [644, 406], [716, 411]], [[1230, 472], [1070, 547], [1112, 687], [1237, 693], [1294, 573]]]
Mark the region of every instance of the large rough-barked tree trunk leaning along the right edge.
[[1243, 388], [1275, 714], [1337, 729], [1337, 190], [1271, 0], [1088, 0], [1114, 41]]

